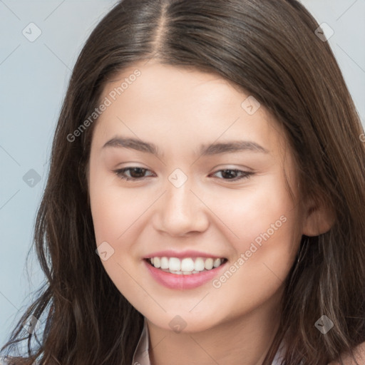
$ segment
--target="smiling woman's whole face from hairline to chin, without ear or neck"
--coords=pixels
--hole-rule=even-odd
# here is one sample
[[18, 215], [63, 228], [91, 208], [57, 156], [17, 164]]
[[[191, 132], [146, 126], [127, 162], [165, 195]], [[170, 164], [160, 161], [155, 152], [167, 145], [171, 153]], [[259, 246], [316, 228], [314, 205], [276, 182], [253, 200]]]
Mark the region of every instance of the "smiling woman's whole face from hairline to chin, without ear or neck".
[[120, 293], [160, 328], [247, 317], [277, 300], [294, 262], [303, 233], [294, 160], [249, 96], [152, 61], [104, 88], [88, 170], [96, 242]]

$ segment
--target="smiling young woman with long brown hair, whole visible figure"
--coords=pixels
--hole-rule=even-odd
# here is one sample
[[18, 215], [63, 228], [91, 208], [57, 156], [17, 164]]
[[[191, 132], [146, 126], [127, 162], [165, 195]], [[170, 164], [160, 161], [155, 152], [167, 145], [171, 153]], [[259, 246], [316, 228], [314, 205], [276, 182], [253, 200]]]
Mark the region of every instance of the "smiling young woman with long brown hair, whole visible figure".
[[364, 132], [318, 27], [294, 0], [115, 5], [68, 86], [8, 364], [365, 363]]

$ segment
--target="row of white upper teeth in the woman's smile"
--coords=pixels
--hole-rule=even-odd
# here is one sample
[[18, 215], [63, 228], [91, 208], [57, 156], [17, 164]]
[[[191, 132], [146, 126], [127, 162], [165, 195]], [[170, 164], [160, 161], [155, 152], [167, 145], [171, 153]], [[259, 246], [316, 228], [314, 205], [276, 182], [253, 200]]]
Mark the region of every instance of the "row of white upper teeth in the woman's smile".
[[154, 267], [166, 269], [176, 274], [184, 274], [185, 272], [194, 273], [200, 272], [204, 269], [210, 270], [213, 267], [218, 267], [222, 264], [224, 259], [213, 259], [212, 257], [185, 257], [179, 259], [178, 257], [151, 257], [150, 262]]

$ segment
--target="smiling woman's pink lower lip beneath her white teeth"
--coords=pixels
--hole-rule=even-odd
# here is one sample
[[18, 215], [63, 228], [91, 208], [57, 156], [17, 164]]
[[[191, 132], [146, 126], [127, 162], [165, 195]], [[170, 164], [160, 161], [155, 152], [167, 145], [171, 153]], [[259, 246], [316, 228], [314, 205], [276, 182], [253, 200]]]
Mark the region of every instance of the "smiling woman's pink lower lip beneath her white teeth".
[[201, 285], [211, 281], [218, 274], [218, 272], [220, 272], [222, 267], [227, 264], [227, 262], [225, 262], [215, 269], [202, 271], [197, 274], [178, 275], [165, 272], [161, 269], [156, 269], [145, 259], [143, 261], [145, 262], [145, 265], [152, 277], [164, 287], [168, 287], [170, 289], [193, 289], [200, 287]]

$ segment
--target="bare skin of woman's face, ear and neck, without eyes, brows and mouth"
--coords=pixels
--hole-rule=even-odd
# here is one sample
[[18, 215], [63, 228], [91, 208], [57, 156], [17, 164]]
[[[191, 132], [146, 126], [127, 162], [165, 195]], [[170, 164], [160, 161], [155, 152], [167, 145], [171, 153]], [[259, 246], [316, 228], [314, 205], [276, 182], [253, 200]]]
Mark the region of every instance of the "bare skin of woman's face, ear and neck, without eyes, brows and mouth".
[[[262, 364], [300, 239], [327, 232], [328, 214], [299, 199], [284, 132], [263, 106], [253, 115], [241, 107], [247, 93], [212, 73], [150, 61], [113, 77], [101, 98], [136, 68], [140, 77], [93, 130], [88, 185], [96, 242], [106, 241], [114, 250], [103, 266], [147, 319], [152, 364]], [[154, 143], [161, 156], [103, 148], [117, 135]], [[199, 155], [201, 144], [230, 140], [254, 141], [268, 153]], [[113, 172], [127, 167], [148, 169], [147, 177], [126, 181]], [[181, 187], [168, 180], [176, 168], [187, 176]], [[224, 169], [254, 174], [232, 181]], [[143, 262], [160, 250], [199, 250], [226, 257], [229, 267], [282, 216], [282, 226], [219, 289], [211, 281], [195, 289], [168, 289]], [[169, 326], [177, 315], [186, 322], [180, 333]]]

